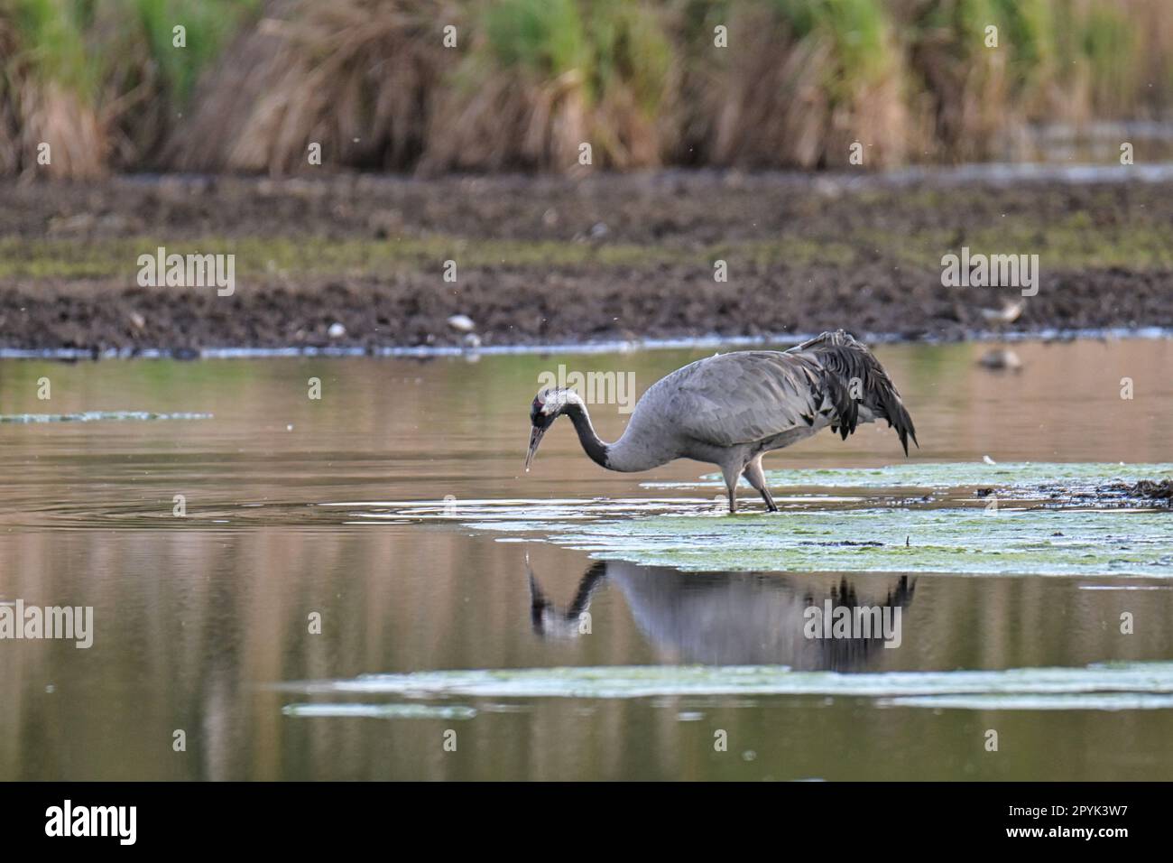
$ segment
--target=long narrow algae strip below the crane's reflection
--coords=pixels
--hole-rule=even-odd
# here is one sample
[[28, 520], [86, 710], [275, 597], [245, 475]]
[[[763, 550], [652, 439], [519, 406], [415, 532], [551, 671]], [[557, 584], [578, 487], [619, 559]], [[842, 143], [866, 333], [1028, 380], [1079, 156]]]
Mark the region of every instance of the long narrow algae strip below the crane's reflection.
[[[1003, 699], [1037, 704], [1067, 699], [1065, 709], [1114, 709], [1108, 695], [1173, 695], [1173, 662], [1127, 662], [1079, 668], [1010, 668], [960, 672], [794, 672], [786, 666], [597, 666], [368, 674], [347, 680], [291, 683], [305, 693], [404, 695], [420, 699], [645, 699], [669, 696], [822, 695], [904, 699], [909, 707], [963, 702], [944, 697]], [[929, 701], [927, 701], [929, 700]], [[976, 703], [976, 702], [975, 702]], [[981, 708], [974, 708], [981, 709]], [[1033, 706], [1022, 709], [1036, 709]]]

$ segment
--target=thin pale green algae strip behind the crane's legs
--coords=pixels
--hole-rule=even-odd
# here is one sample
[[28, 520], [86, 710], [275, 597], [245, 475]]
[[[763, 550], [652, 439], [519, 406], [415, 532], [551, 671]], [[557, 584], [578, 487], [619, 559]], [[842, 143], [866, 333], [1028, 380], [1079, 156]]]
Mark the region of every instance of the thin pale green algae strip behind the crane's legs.
[[[1173, 464], [1124, 464], [1099, 461], [910, 461], [883, 467], [826, 467], [766, 471], [772, 487], [792, 488], [1035, 488], [1057, 483], [1074, 487], [1096, 487], [1112, 480], [1139, 481], [1173, 474]], [[700, 483], [673, 483], [673, 487], [725, 487], [719, 473], [708, 473]], [[651, 487], [651, 484], [645, 484]], [[669, 484], [660, 484], [662, 486]], [[743, 484], [744, 485], [744, 484]]]

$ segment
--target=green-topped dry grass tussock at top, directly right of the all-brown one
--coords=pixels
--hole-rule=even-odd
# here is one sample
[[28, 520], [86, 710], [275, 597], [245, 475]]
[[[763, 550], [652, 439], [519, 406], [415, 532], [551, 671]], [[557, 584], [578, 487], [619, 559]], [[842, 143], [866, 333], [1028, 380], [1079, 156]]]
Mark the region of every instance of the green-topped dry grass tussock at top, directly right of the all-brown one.
[[665, 11], [601, 0], [487, 6], [469, 54], [442, 89], [423, 173], [660, 163], [660, 107], [674, 80]]

